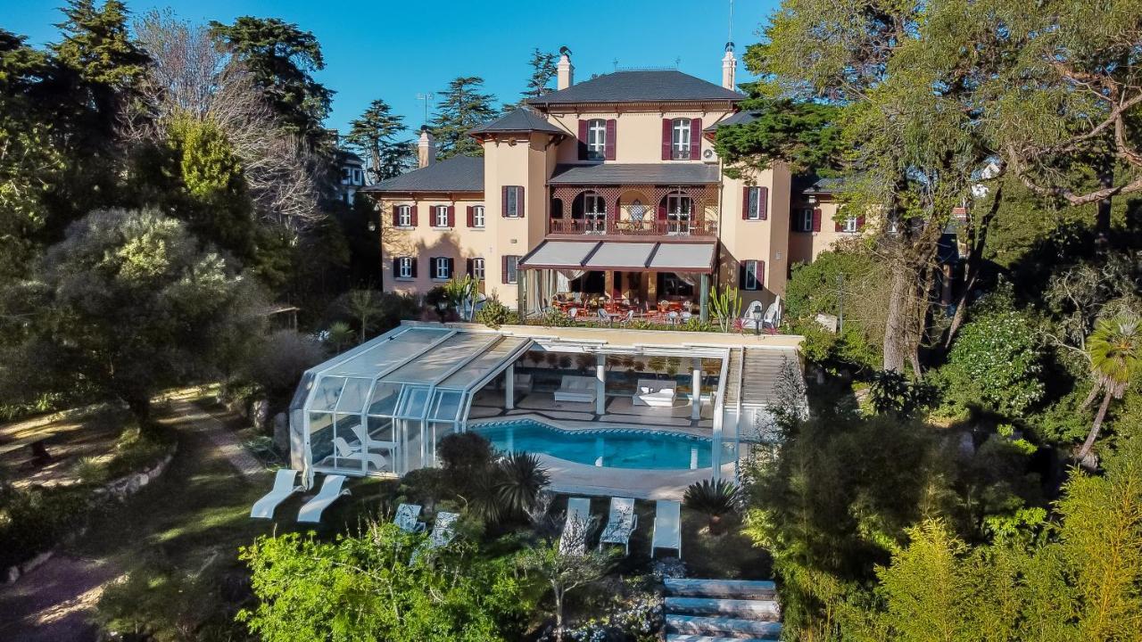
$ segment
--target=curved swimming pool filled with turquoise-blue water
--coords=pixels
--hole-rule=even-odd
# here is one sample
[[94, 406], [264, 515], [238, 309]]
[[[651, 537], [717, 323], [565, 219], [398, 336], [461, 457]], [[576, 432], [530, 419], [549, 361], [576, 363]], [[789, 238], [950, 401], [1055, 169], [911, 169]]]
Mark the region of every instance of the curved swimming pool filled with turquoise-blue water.
[[[507, 452], [542, 452], [578, 464], [609, 468], [708, 468], [714, 444], [706, 438], [652, 428], [563, 431], [531, 419], [482, 424], [471, 430]], [[732, 455], [729, 455], [732, 447], [723, 444], [723, 449], [722, 462], [732, 460]]]

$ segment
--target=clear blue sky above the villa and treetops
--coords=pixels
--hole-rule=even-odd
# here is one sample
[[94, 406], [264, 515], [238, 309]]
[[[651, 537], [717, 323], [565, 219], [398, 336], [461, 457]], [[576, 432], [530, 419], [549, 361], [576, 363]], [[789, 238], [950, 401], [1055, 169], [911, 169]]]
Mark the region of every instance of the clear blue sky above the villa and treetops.
[[[0, 0], [0, 26], [35, 45], [55, 41], [62, 0]], [[673, 67], [721, 81], [729, 0], [127, 0], [135, 14], [170, 7], [191, 22], [238, 16], [280, 17], [312, 31], [325, 70], [317, 79], [337, 94], [327, 125], [347, 130], [370, 101], [384, 98], [410, 129], [424, 121], [417, 94], [440, 93], [458, 75], [480, 75], [500, 102], [515, 101], [534, 47], [572, 51], [576, 80], [619, 67]], [[738, 57], [777, 0], [734, 0]], [[521, 35], [523, 34], [523, 35]], [[739, 82], [747, 78], [738, 67]], [[497, 104], [498, 106], [498, 104]], [[431, 107], [429, 107], [431, 110]]]

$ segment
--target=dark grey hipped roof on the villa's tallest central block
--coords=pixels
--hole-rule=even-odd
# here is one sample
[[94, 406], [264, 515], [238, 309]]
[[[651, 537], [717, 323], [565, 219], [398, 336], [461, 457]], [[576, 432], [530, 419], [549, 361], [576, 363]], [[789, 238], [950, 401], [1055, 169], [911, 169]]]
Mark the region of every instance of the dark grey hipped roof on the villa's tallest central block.
[[643, 103], [658, 101], [740, 101], [745, 98], [719, 85], [681, 71], [618, 71], [595, 77], [538, 98], [529, 105], [570, 103]]

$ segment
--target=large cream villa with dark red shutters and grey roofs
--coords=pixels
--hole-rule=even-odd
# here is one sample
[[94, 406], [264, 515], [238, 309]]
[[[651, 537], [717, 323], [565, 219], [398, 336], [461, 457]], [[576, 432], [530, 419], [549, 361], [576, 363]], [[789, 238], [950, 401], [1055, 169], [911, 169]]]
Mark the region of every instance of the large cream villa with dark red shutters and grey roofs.
[[380, 211], [385, 289], [469, 274], [523, 314], [707, 319], [714, 287], [770, 305], [791, 263], [863, 222], [837, 215], [828, 185], [794, 193], [783, 164], [723, 174], [718, 128], [754, 118], [735, 69], [729, 43], [721, 85], [675, 70], [574, 83], [563, 48], [555, 91], [469, 131], [482, 158], [437, 161], [421, 130], [419, 169], [360, 190]]

